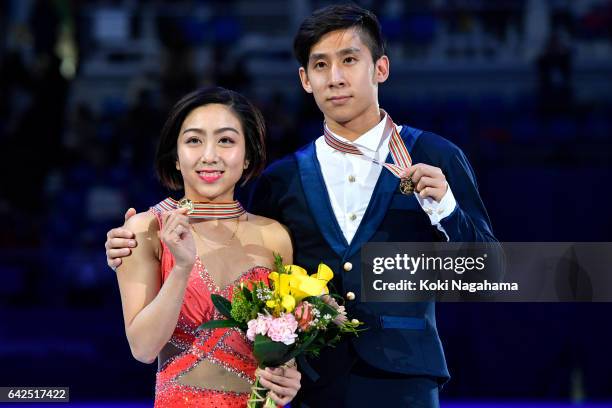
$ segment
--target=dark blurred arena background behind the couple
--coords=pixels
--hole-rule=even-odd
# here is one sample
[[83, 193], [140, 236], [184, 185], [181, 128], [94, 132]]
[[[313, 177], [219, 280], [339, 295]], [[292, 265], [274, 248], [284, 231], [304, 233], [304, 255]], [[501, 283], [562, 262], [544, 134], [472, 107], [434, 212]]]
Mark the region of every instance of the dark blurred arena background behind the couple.
[[[152, 401], [156, 367], [131, 357], [106, 231], [167, 195], [155, 143], [171, 104], [198, 86], [262, 109], [270, 161], [320, 135], [291, 47], [330, 3], [0, 3], [0, 386]], [[612, 1], [357, 3], [388, 40], [381, 106], [466, 152], [500, 240], [612, 241]], [[442, 405], [607, 406], [611, 313], [440, 304]]]

